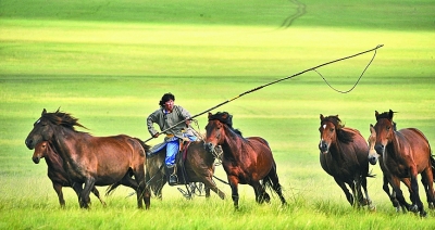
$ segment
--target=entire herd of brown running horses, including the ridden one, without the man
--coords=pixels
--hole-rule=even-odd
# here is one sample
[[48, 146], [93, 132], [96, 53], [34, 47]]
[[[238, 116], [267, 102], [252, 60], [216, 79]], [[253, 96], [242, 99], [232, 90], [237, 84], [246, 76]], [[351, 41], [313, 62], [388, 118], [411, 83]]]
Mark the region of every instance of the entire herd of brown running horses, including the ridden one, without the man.
[[[399, 210], [410, 210], [426, 216], [419, 195], [418, 175], [426, 192], [430, 208], [434, 208], [435, 159], [427, 139], [415, 128], [396, 130], [393, 122], [394, 112], [375, 112], [376, 124], [370, 125], [371, 136], [368, 141], [357, 129], [345, 127], [336, 116], [320, 115], [320, 163], [344, 191], [347, 201], [356, 206], [371, 205], [368, 192], [369, 163], [380, 162], [383, 171], [383, 189], [393, 205]], [[256, 202], [270, 202], [266, 189], [274, 191], [282, 205], [286, 205], [283, 189], [276, 173], [276, 163], [266, 140], [261, 137], [243, 137], [233, 128], [233, 116], [227, 112], [208, 116], [206, 137], [189, 142], [186, 151], [178, 154], [181, 159], [177, 170], [181, 184], [202, 183], [206, 196], [210, 190], [225, 199], [213, 181], [215, 159], [219, 157], [227, 175], [232, 190], [234, 207], [239, 204], [238, 184], [253, 188]], [[161, 197], [166, 182], [164, 170], [165, 150], [148, 157], [151, 146], [138, 138], [126, 135], [94, 137], [71, 114], [42, 111], [41, 117], [34, 124], [25, 140], [29, 150], [35, 150], [34, 163], [45, 158], [48, 177], [58, 193], [59, 203], [65, 205], [62, 187], [71, 187], [76, 192], [79, 206], [88, 208], [90, 193], [100, 202], [96, 187], [109, 186], [107, 194], [119, 186], [135, 190], [137, 206], [150, 207], [151, 192]], [[221, 156], [215, 153], [220, 148]], [[400, 189], [400, 182], [409, 190], [408, 203]], [[347, 186], [350, 188], [349, 192]], [[391, 191], [389, 190], [391, 187]], [[364, 194], [362, 193], [364, 190]]]

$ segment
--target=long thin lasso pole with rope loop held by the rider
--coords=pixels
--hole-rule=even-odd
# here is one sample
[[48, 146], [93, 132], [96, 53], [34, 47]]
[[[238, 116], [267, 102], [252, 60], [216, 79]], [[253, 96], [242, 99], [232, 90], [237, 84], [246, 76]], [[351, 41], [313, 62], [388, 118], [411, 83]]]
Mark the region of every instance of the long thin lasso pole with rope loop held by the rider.
[[[220, 104], [217, 104], [217, 105], [214, 105], [213, 107], [210, 107], [210, 108], [207, 110], [207, 111], [203, 111], [203, 112], [201, 112], [201, 113], [199, 113], [199, 114], [197, 114], [197, 115], [194, 115], [194, 116], [191, 116], [191, 117], [189, 117], [189, 118], [187, 118], [187, 119], [184, 119], [184, 120], [182, 120], [182, 122], [179, 122], [179, 123], [177, 123], [177, 124], [175, 124], [175, 125], [173, 125], [173, 126], [171, 126], [171, 127], [169, 127], [169, 128], [162, 130], [161, 132], [165, 132], [165, 131], [167, 131], [167, 130], [171, 130], [171, 129], [173, 129], [174, 127], [178, 126], [179, 124], [186, 123], [187, 120], [191, 120], [191, 119], [194, 119], [195, 117], [201, 116], [202, 114], [206, 114], [206, 113], [208, 113], [208, 112], [210, 112], [210, 111], [212, 111], [212, 110], [214, 110], [214, 108], [216, 108], [216, 107], [220, 107], [220, 106], [222, 106], [222, 105], [224, 105], [224, 104], [226, 104], [226, 103], [229, 103], [229, 102], [232, 102], [232, 101], [234, 101], [234, 100], [236, 100], [236, 99], [238, 99], [238, 98], [240, 98], [240, 97], [244, 97], [244, 95], [246, 95], [246, 94], [248, 94], [248, 93], [251, 93], [251, 92], [254, 92], [254, 91], [257, 91], [257, 90], [260, 90], [260, 89], [262, 89], [262, 88], [264, 88], [264, 87], [268, 87], [268, 86], [271, 86], [271, 85], [281, 82], [281, 81], [283, 81], [283, 80], [291, 79], [291, 78], [294, 78], [294, 77], [297, 77], [297, 76], [302, 75], [302, 74], [304, 74], [304, 73], [307, 73], [307, 72], [310, 72], [310, 71], [316, 72], [316, 68], [323, 67], [323, 66], [325, 66], [325, 65], [331, 65], [331, 64], [336, 63], [336, 62], [340, 62], [340, 61], [344, 61], [344, 60], [347, 60], [347, 59], [352, 59], [352, 58], [356, 58], [356, 56], [359, 56], [359, 55], [362, 55], [362, 54], [364, 54], [364, 53], [369, 53], [369, 52], [372, 52], [372, 51], [375, 51], [375, 53], [374, 53], [374, 55], [375, 55], [375, 54], [376, 54], [376, 50], [380, 49], [380, 48], [382, 48], [382, 47], [384, 47], [384, 44], [377, 44], [377, 46], [376, 46], [375, 48], [373, 48], [373, 49], [365, 50], [365, 51], [356, 53], [356, 54], [353, 54], [353, 55], [345, 56], [345, 58], [337, 59], [337, 60], [334, 60], [334, 61], [331, 61], [331, 62], [326, 62], [326, 63], [316, 65], [316, 66], [314, 66], [314, 67], [307, 68], [307, 69], [304, 69], [304, 71], [302, 71], [302, 72], [299, 72], [299, 73], [297, 73], [297, 74], [294, 74], [294, 75], [291, 75], [291, 76], [287, 76], [287, 77], [284, 77], [284, 78], [274, 80], [274, 81], [272, 81], [272, 82], [264, 84], [264, 85], [259, 86], [259, 87], [257, 87], [257, 88], [254, 88], [254, 89], [251, 89], [251, 90], [248, 90], [248, 91], [246, 91], [246, 92], [243, 92], [243, 93], [238, 94], [237, 97], [235, 97], [235, 98], [233, 98], [233, 99], [226, 100], [226, 101], [224, 101], [224, 102], [222, 102], [222, 103], [220, 103]], [[369, 65], [372, 63], [372, 61], [373, 61], [373, 59], [374, 59], [374, 55], [373, 55], [372, 60], [370, 61]], [[366, 68], [369, 67], [369, 65], [364, 68], [364, 72], [366, 71]], [[362, 75], [364, 74], [364, 72], [362, 73]], [[316, 73], [319, 73], [319, 72], [316, 72]], [[360, 78], [358, 79], [358, 81], [361, 79], [362, 75], [360, 76]], [[324, 78], [323, 76], [322, 76], [322, 78], [323, 78], [323, 80], [325, 80], [325, 78]], [[357, 81], [357, 84], [358, 84], [358, 81]], [[326, 80], [325, 80], [325, 82], [331, 87], [331, 85], [330, 85]], [[347, 92], [350, 92], [355, 87], [356, 87], [356, 85], [355, 85], [350, 90], [348, 90]], [[150, 140], [152, 140], [152, 139], [153, 139], [153, 137], [147, 139], [147, 140], [145, 140], [144, 142], [148, 142], [148, 141], [150, 141]]]

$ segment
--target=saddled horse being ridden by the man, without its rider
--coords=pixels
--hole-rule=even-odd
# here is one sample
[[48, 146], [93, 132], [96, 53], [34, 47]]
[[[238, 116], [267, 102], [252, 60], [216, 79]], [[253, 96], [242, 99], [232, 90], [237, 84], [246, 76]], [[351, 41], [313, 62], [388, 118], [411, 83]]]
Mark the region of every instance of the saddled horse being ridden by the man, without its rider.
[[[215, 155], [207, 152], [203, 144], [203, 140], [189, 142], [186, 150], [187, 152], [178, 154], [178, 157], [182, 157], [177, 161], [178, 184], [189, 186], [186, 194], [187, 197], [191, 197], [192, 194], [189, 194], [190, 191], [196, 190], [196, 184], [194, 183], [202, 182], [206, 187], [206, 197], [210, 196], [210, 190], [212, 190], [224, 200], [225, 193], [222, 192], [213, 181]], [[164, 167], [165, 151], [166, 150], [163, 148], [154, 153], [153, 156], [147, 158], [146, 180], [158, 197], [159, 195], [161, 196], [161, 190], [166, 183], [166, 171]], [[185, 155], [185, 157], [183, 155]]]

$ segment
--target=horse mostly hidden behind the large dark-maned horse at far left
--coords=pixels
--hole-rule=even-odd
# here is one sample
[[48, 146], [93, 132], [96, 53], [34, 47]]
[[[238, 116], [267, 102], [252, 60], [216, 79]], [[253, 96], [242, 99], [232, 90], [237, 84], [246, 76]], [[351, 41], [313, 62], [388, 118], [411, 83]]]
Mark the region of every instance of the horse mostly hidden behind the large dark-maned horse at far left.
[[[63, 161], [58, 153], [52, 149], [50, 142], [42, 141], [35, 146], [35, 152], [32, 157], [35, 164], [39, 164], [40, 158], [45, 158], [48, 166], [48, 178], [50, 178], [55, 193], [58, 193], [59, 203], [61, 207], [65, 207], [65, 200], [63, 199], [62, 187], [71, 187], [77, 194], [80, 194], [83, 188], [82, 183], [72, 183], [67, 178], [66, 171], [63, 169]], [[101, 204], [105, 203], [101, 200], [100, 193], [97, 188], [92, 188], [92, 193], [100, 200]]]

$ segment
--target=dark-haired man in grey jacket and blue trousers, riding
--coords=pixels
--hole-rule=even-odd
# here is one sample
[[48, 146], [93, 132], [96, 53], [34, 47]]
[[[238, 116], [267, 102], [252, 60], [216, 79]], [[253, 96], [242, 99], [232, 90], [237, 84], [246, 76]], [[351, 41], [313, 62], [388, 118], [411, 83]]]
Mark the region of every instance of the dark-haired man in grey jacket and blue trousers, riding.
[[[157, 153], [159, 150], [166, 148], [166, 157], [164, 162], [167, 168], [167, 181], [170, 186], [176, 186], [178, 183], [175, 159], [181, 150], [181, 144], [183, 144], [184, 141], [197, 140], [190, 127], [190, 120], [188, 120], [190, 113], [179, 105], [174, 105], [174, 101], [175, 95], [171, 92], [163, 94], [159, 102], [160, 108], [154, 111], [147, 118], [148, 131], [151, 137], [158, 138], [160, 136], [160, 132], [154, 129], [153, 124], [159, 125], [160, 130], [163, 130], [163, 133], [166, 135], [164, 142], [153, 148], [149, 154], [151, 156], [152, 153]], [[169, 129], [170, 127], [173, 128]]]

